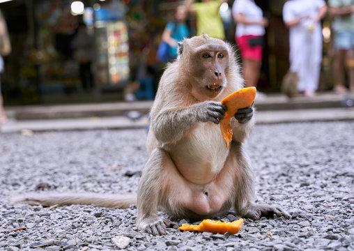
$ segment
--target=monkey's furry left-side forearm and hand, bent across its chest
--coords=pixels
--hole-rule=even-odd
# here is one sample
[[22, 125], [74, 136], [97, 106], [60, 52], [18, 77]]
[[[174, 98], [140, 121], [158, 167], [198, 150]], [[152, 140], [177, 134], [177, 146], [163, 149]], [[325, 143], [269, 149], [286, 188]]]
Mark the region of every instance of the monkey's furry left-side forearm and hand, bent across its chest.
[[163, 143], [177, 142], [197, 122], [213, 122], [218, 124], [224, 119], [226, 107], [221, 102], [204, 101], [189, 107], [162, 109], [152, 119], [151, 126], [156, 139]]

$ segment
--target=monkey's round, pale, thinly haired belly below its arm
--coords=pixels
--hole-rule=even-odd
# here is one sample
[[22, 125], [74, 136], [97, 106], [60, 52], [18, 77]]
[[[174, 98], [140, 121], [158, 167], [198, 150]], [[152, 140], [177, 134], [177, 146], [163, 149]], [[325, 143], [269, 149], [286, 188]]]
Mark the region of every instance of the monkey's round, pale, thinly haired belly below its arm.
[[195, 184], [208, 184], [224, 167], [229, 154], [219, 126], [200, 123], [169, 151], [180, 174]]

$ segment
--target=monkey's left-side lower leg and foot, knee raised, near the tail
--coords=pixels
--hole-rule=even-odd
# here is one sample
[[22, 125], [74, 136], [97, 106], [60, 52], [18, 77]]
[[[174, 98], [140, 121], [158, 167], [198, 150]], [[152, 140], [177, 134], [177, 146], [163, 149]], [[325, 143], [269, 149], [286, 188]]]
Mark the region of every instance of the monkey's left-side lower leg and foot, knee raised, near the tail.
[[[149, 234], [166, 234], [166, 227], [174, 224], [157, 215], [157, 210], [164, 200], [169, 200], [167, 184], [169, 166], [174, 163], [163, 149], [155, 149], [146, 163], [139, 182], [137, 195], [137, 226]], [[174, 227], [174, 226], [173, 226]]]

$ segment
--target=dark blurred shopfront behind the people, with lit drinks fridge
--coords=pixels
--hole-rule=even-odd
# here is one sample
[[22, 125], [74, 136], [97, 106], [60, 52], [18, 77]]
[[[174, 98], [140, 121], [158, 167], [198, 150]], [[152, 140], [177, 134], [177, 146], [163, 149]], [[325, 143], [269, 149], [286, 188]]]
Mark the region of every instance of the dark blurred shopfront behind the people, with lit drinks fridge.
[[[147, 80], [153, 82], [155, 91], [163, 70], [156, 61], [156, 50], [164, 25], [182, 1], [84, 0], [84, 15], [73, 15], [72, 2], [14, 0], [0, 4], [13, 45], [1, 74], [6, 105], [124, 100], [127, 86], [129, 89], [132, 83], [139, 85], [139, 81]], [[256, 0], [270, 20], [259, 83], [263, 91], [279, 91], [288, 70], [284, 2]], [[229, 1], [229, 8], [232, 3]], [[193, 16], [189, 24], [193, 34]], [[329, 22], [325, 25], [329, 26]], [[82, 55], [91, 59], [80, 59], [75, 49], [74, 41], [82, 26], [86, 31], [84, 40], [91, 42], [83, 43], [91, 49]], [[226, 29], [226, 39], [234, 43], [235, 24], [227, 24]], [[325, 80], [320, 87], [328, 86], [325, 81], [330, 79], [330, 43], [325, 42], [323, 48]], [[92, 69], [91, 75], [87, 68]]]

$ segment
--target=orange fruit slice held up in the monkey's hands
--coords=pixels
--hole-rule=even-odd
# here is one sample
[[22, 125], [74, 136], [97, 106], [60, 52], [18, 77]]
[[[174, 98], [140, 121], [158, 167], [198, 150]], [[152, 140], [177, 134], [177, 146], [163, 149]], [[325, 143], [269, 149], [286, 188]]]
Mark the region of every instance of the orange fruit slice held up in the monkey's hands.
[[247, 87], [231, 93], [222, 100], [222, 104], [226, 105], [227, 112], [224, 119], [220, 121], [220, 130], [222, 137], [226, 142], [226, 148], [232, 140], [233, 130], [231, 128], [231, 118], [235, 116], [238, 109], [250, 107], [256, 98], [256, 87]]

